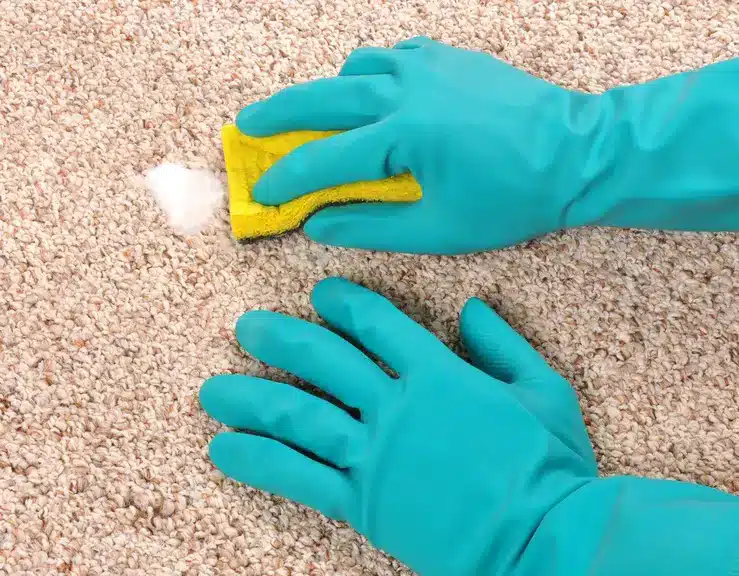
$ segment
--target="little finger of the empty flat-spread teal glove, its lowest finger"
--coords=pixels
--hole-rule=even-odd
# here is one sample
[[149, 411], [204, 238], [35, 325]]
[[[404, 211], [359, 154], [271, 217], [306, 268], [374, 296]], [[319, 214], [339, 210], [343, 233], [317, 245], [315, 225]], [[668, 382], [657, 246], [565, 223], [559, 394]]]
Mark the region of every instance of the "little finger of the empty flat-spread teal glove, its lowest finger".
[[240, 432], [218, 434], [209, 451], [215, 466], [226, 476], [299, 502], [334, 520], [346, 520], [350, 485], [342, 472], [277, 440]]

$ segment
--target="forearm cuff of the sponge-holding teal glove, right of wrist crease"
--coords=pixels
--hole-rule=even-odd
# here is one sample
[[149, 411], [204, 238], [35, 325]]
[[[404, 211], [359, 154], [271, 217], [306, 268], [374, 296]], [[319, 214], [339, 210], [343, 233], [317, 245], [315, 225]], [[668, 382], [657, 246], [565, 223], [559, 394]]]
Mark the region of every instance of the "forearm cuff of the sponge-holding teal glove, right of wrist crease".
[[566, 227], [739, 231], [739, 58], [599, 97]]

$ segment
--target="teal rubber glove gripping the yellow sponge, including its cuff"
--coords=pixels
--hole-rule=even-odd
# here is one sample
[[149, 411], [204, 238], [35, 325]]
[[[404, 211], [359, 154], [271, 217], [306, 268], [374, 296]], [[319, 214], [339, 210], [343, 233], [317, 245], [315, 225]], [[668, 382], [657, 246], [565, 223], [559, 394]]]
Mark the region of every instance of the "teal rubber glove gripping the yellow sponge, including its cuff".
[[313, 240], [459, 254], [603, 225], [739, 230], [739, 59], [620, 87], [566, 90], [490, 55], [414, 38], [360, 48], [339, 75], [242, 110], [252, 136], [344, 130], [257, 182], [276, 205], [410, 172], [414, 204], [326, 208]]

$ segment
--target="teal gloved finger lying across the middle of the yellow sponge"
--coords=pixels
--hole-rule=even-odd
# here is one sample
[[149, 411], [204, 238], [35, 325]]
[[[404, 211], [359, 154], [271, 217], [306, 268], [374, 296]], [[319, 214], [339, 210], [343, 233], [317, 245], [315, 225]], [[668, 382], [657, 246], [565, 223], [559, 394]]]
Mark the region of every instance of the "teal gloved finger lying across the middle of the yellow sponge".
[[339, 184], [380, 180], [406, 170], [385, 122], [307, 142], [280, 158], [254, 186], [254, 199], [274, 206]]

